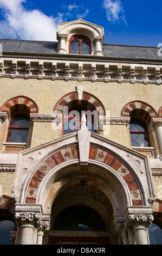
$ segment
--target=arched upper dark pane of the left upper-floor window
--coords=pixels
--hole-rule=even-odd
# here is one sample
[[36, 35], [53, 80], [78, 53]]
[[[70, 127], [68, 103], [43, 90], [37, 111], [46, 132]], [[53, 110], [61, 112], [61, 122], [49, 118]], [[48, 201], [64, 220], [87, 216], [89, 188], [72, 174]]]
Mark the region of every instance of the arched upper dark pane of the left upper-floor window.
[[11, 127], [29, 127], [29, 117], [28, 115], [17, 114], [11, 118]]

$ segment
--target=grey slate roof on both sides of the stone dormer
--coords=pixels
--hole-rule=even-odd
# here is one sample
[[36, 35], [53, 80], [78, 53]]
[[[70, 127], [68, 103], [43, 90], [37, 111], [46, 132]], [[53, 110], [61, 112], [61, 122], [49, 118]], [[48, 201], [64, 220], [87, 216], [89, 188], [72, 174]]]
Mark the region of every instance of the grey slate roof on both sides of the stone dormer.
[[[0, 39], [3, 52], [56, 54], [58, 42]], [[115, 58], [161, 59], [158, 47], [102, 44], [103, 56]]]

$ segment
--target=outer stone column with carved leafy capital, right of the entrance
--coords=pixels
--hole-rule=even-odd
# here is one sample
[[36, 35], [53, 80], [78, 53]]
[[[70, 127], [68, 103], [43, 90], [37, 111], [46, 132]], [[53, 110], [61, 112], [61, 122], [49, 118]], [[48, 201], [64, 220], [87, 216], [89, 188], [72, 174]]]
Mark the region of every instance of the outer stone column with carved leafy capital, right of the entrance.
[[148, 245], [147, 228], [153, 221], [152, 215], [129, 215], [127, 223], [133, 228], [137, 245]]

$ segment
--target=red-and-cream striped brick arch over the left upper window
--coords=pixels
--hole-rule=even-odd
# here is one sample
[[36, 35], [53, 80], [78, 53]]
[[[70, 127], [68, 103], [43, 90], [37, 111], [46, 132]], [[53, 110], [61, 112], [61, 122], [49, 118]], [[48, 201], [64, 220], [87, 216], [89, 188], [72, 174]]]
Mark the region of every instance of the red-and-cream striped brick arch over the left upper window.
[[38, 113], [36, 103], [25, 96], [13, 97], [6, 101], [0, 108], [0, 112], [7, 112], [8, 118], [16, 112]]

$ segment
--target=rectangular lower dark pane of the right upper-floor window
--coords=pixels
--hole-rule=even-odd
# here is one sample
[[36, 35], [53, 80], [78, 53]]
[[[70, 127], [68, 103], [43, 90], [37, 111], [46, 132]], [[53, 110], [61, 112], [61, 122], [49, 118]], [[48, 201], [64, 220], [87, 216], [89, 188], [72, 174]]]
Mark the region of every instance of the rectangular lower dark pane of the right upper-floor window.
[[147, 133], [131, 133], [133, 147], [150, 147]]

